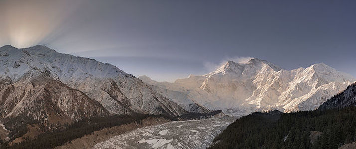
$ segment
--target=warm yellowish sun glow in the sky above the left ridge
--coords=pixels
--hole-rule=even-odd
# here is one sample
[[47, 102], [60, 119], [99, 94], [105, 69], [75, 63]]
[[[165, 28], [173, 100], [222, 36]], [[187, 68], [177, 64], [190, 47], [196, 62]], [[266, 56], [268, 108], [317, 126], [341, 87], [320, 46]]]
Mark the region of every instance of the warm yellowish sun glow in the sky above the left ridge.
[[68, 3], [67, 0], [42, 0], [41, 4], [34, 0], [1, 1], [0, 45], [24, 48], [44, 41], [73, 10]]

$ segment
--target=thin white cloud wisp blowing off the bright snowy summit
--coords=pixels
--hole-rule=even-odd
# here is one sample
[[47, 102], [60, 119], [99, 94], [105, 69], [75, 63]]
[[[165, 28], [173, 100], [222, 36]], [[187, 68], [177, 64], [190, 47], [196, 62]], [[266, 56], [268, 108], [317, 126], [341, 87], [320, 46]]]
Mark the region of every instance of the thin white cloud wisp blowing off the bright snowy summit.
[[227, 61], [234, 61], [237, 63], [245, 64], [248, 61], [250, 61], [251, 59], [253, 59], [253, 57], [234, 56], [234, 57], [226, 57], [218, 63], [207, 61], [207, 62], [204, 62], [203, 64], [204, 64], [205, 69], [208, 70], [209, 72], [211, 72], [211, 71], [215, 71], [216, 69], [218, 69], [219, 67], [224, 65]]

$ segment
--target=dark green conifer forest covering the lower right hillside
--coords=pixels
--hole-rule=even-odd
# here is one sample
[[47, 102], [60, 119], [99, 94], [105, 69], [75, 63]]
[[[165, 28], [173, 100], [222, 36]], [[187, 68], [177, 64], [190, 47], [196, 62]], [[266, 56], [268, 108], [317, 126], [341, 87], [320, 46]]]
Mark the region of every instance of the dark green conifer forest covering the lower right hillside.
[[[355, 106], [284, 113], [276, 120], [277, 115], [257, 112], [239, 118], [209, 149], [337, 149], [356, 140]], [[312, 144], [310, 131], [323, 134]]]

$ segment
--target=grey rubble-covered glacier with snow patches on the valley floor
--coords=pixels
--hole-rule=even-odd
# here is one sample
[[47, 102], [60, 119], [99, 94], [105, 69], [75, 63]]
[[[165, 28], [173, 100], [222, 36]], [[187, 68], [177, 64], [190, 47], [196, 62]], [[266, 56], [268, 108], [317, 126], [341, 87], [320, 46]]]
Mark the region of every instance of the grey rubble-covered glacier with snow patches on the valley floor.
[[205, 149], [234, 120], [174, 121], [138, 128], [100, 142], [94, 149]]

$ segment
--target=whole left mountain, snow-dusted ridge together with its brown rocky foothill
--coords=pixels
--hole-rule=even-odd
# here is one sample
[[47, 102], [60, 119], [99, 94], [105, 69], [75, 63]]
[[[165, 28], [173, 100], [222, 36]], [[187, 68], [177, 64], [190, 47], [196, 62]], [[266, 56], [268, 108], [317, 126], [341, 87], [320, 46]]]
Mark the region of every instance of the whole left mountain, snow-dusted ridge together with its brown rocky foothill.
[[113, 65], [45, 46], [1, 47], [0, 64], [0, 121], [19, 115], [78, 120], [110, 113], [186, 113]]

